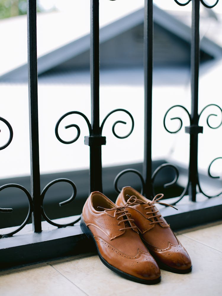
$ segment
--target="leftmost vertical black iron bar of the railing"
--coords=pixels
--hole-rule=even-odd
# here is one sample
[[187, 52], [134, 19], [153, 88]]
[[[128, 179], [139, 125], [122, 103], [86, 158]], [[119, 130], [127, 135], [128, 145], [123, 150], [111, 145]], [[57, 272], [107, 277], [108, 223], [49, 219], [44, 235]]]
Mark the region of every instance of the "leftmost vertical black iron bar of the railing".
[[31, 195], [33, 198], [32, 222], [33, 231], [41, 232], [40, 172], [38, 146], [36, 0], [27, 1], [27, 25]]

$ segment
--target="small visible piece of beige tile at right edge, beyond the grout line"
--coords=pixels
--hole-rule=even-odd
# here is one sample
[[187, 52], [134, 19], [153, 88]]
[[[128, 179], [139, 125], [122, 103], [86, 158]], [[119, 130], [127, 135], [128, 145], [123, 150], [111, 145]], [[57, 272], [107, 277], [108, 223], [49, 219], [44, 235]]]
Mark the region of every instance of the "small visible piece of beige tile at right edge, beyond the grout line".
[[183, 236], [201, 242], [206, 246], [212, 247], [215, 250], [222, 252], [222, 223], [216, 226], [207, 227], [204, 229], [191, 231], [183, 234]]

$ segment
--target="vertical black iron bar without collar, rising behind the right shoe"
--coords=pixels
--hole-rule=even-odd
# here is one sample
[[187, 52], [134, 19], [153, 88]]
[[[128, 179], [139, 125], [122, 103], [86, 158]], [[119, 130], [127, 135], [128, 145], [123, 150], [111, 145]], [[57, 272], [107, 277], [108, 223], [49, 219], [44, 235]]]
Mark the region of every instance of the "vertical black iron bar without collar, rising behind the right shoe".
[[152, 196], [152, 73], [153, 73], [153, 1], [145, 0], [144, 7], [144, 163], [145, 195]]

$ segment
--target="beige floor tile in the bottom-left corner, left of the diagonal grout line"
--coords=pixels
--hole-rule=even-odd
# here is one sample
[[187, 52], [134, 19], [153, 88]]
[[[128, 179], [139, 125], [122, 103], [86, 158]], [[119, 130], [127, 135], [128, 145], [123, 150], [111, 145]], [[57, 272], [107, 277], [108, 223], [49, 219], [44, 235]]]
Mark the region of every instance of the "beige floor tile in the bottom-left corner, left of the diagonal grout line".
[[0, 276], [0, 295], [2, 296], [60, 296], [65, 294], [86, 295], [49, 265]]

